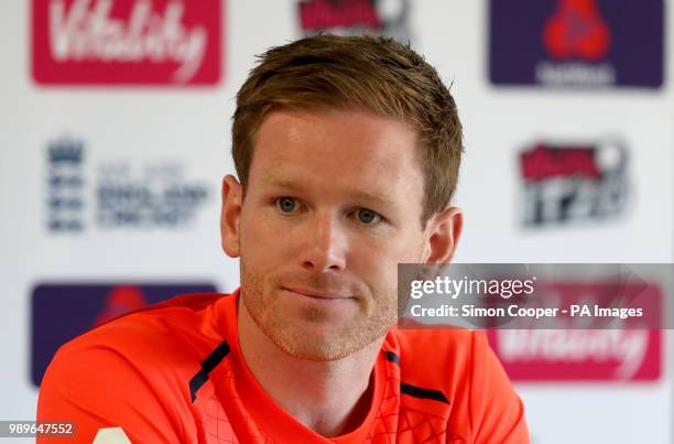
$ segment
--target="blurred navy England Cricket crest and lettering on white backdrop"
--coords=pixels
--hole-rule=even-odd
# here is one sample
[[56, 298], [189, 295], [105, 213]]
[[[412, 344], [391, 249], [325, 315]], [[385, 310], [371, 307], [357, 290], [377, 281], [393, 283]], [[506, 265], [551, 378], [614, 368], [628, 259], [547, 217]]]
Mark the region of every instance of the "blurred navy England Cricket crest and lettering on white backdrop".
[[185, 162], [113, 158], [90, 165], [87, 149], [68, 137], [47, 143], [45, 219], [52, 232], [184, 228], [217, 193], [188, 180]]

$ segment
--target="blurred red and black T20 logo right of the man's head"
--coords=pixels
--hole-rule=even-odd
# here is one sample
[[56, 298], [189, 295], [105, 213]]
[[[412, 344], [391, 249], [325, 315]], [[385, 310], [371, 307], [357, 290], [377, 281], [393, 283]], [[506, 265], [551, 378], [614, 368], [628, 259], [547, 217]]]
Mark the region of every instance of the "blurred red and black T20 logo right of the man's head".
[[617, 143], [540, 143], [520, 155], [524, 224], [544, 226], [618, 216], [629, 197], [628, 152]]

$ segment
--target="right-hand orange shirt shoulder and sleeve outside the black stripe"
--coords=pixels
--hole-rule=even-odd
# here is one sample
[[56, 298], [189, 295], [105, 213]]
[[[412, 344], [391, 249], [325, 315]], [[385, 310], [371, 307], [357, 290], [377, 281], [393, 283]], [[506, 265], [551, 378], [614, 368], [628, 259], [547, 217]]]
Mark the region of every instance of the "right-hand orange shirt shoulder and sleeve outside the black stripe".
[[449, 425], [476, 443], [528, 443], [524, 407], [482, 331], [395, 328], [387, 346], [400, 354], [401, 378], [441, 391]]

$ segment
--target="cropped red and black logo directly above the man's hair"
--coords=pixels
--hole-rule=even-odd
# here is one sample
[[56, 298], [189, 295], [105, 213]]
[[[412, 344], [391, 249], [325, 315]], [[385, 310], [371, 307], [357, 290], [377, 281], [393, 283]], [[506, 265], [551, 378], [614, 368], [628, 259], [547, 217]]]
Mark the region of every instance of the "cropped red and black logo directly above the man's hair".
[[407, 43], [411, 0], [302, 0], [297, 4], [305, 35], [383, 34]]

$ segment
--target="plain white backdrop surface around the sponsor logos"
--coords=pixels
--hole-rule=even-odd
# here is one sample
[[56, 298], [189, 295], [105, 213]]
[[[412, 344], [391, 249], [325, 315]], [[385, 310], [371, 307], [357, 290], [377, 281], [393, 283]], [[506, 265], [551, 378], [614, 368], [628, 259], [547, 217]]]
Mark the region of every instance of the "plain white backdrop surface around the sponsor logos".
[[[46, 0], [45, 0], [46, 1]], [[382, 2], [395, 9], [396, 1]], [[226, 0], [222, 72], [217, 85], [174, 88], [48, 86], [31, 75], [31, 2], [0, 2], [0, 420], [32, 420], [31, 291], [41, 282], [238, 282], [220, 251], [219, 184], [229, 156], [233, 97], [253, 55], [302, 35], [294, 0]], [[674, 19], [665, 2], [666, 20]], [[674, 47], [665, 36], [660, 89], [601, 91], [499, 88], [489, 82], [488, 1], [411, 4], [413, 46], [454, 93], [466, 155], [456, 204], [465, 210], [458, 261], [672, 262], [674, 251]], [[180, 164], [208, 195], [184, 226], [105, 229], [88, 187], [81, 232], [46, 228], [47, 145], [81, 141], [85, 183], [111, 165], [139, 171]], [[528, 229], [518, 155], [537, 142], [618, 137], [630, 149], [631, 199], [606, 223]], [[142, 174], [142, 173], [139, 173]], [[90, 205], [89, 205], [90, 204]], [[674, 443], [674, 343], [663, 377], [650, 383], [519, 383], [536, 444]]]

